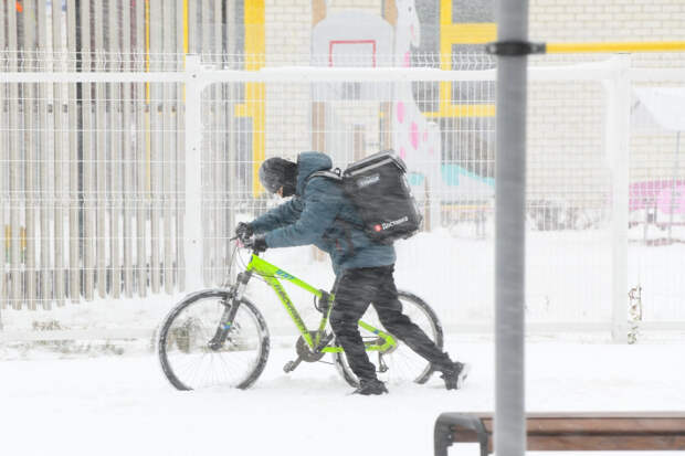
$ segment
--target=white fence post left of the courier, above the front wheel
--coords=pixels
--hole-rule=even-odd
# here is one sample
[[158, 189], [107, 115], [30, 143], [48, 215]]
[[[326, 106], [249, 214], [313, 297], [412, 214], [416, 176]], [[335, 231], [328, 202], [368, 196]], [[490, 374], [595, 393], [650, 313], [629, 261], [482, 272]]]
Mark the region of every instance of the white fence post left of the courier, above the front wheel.
[[202, 287], [202, 66], [199, 55], [186, 56], [186, 208], [183, 251], [186, 289]]

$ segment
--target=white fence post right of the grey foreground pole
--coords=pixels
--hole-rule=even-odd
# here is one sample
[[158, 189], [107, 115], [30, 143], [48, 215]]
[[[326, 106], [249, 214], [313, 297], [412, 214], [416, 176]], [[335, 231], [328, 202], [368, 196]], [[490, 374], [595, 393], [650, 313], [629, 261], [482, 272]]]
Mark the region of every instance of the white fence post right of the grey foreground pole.
[[614, 57], [607, 109], [607, 151], [612, 177], [611, 338], [616, 343], [628, 343], [630, 63], [630, 54]]

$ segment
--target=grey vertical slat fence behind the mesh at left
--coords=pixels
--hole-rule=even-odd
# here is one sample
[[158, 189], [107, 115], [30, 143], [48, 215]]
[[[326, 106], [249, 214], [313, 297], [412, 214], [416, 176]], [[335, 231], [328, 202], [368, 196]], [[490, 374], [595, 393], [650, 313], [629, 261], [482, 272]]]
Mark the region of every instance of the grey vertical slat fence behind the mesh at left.
[[[3, 2], [0, 71], [182, 71], [188, 45], [221, 54], [223, 8], [218, 0]], [[0, 306], [49, 309], [185, 289], [183, 84], [30, 81], [0, 92]], [[209, 121], [223, 124], [225, 113]], [[212, 149], [222, 162], [220, 129]], [[212, 182], [224, 182], [218, 169]], [[225, 230], [222, 216], [212, 220]]]

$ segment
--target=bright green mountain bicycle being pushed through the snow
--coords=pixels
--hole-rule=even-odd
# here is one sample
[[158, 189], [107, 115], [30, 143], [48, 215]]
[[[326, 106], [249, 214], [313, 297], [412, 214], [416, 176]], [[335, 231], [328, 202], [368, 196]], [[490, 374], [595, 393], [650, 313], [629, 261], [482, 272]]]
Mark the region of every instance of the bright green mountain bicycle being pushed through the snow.
[[[231, 254], [231, 266], [238, 248], [236, 244]], [[238, 274], [235, 283], [188, 295], [162, 321], [157, 340], [158, 354], [171, 384], [179, 390], [212, 386], [247, 389], [254, 384], [266, 365], [270, 352], [266, 321], [259, 307], [244, 296], [250, 280], [259, 276], [274, 290], [301, 335], [295, 342], [297, 358], [287, 362], [284, 371], [292, 372], [303, 361], [324, 362], [322, 359], [330, 353], [345, 381], [357, 386], [357, 377], [328, 325], [334, 295], [267, 263], [254, 251], [250, 253], [251, 259]], [[315, 330], [305, 326], [280, 280], [291, 282], [314, 295], [315, 306], [322, 312]], [[403, 312], [442, 349], [442, 327], [431, 307], [407, 291], [399, 291], [399, 299]], [[380, 329], [372, 306], [359, 320], [359, 327], [379, 379], [391, 383], [425, 383], [430, 379], [433, 373], [430, 362]]]

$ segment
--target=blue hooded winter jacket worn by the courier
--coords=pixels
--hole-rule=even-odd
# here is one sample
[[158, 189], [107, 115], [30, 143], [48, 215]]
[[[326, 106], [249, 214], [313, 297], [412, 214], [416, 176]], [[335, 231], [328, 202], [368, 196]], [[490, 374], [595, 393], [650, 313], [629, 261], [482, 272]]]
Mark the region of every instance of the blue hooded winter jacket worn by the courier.
[[359, 227], [361, 218], [339, 182], [319, 176], [308, 179], [331, 167], [330, 158], [322, 152], [302, 152], [295, 197], [255, 219], [252, 229], [266, 233], [270, 248], [316, 245], [330, 255], [336, 275], [394, 264], [394, 247], [373, 242]]

